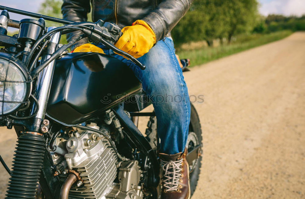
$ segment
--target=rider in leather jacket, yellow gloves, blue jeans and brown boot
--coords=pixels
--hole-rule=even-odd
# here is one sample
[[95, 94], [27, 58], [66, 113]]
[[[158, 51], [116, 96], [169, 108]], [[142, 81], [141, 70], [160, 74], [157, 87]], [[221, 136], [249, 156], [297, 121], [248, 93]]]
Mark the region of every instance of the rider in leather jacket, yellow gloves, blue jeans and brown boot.
[[[190, 122], [190, 102], [181, 68], [175, 56], [170, 31], [185, 15], [192, 0], [91, 0], [92, 19], [102, 19], [122, 28], [115, 46], [146, 65], [139, 69], [130, 60], [103, 45], [88, 44], [82, 39], [73, 52], [100, 52], [125, 62], [142, 83], [152, 101], [160, 137], [163, 168], [162, 198], [189, 198], [189, 173], [186, 141]], [[81, 22], [90, 12], [89, 0], [64, 0], [63, 18]], [[67, 35], [70, 41], [81, 32]]]

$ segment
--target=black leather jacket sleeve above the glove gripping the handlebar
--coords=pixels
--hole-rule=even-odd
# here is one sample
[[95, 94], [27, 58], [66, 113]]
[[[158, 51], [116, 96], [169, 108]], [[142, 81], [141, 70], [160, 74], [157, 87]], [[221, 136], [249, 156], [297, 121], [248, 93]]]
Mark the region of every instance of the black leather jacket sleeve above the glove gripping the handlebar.
[[156, 40], [164, 38], [185, 15], [193, 0], [163, 0], [143, 21], [150, 25]]

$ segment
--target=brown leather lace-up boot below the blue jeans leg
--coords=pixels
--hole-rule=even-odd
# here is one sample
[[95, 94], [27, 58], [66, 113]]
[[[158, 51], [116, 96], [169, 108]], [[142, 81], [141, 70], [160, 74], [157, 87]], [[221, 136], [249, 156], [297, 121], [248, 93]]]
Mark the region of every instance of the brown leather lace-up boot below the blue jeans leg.
[[163, 182], [161, 199], [189, 199], [189, 168], [186, 161], [187, 149], [174, 155], [162, 154]]

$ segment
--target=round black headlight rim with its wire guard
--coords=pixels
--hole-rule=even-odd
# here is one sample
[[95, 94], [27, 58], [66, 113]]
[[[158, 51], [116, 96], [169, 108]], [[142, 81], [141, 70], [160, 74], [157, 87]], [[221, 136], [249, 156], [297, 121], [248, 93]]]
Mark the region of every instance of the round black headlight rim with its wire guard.
[[[11, 110], [5, 114], [3, 113], [4, 111], [2, 109], [2, 112], [0, 112], [0, 116], [3, 117], [3, 116], [8, 116], [10, 114], [17, 112], [20, 108], [23, 107], [22, 106], [23, 104], [28, 103], [28, 99], [32, 92], [33, 82], [32, 82], [30, 73], [27, 70], [27, 67], [24, 65], [24, 63], [22, 63], [20, 60], [18, 60], [16, 57], [14, 57], [12, 54], [0, 52], [0, 59], [8, 61], [9, 64], [13, 64], [14, 67], [16, 67], [21, 72], [21, 74], [24, 76], [24, 79], [26, 80], [26, 81], [20, 82], [20, 83], [24, 83], [26, 86], [25, 95], [24, 95], [22, 101], [13, 102], [13, 103], [19, 103], [19, 105], [17, 107], [15, 107], [13, 110]], [[8, 67], [11, 67], [11, 66], [8, 66]], [[4, 81], [2, 81], [2, 82], [4, 82]], [[6, 81], [6, 82], [19, 82], [19, 81]], [[5, 91], [3, 91], [3, 92], [5, 92]], [[0, 102], [5, 103], [4, 98], [2, 100], [0, 100]]]

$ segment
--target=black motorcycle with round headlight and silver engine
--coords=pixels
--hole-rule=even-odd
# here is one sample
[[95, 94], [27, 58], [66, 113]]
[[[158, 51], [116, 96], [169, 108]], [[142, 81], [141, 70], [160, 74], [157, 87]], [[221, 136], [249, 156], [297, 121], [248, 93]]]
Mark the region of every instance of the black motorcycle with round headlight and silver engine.
[[[73, 22], [0, 6], [0, 126], [18, 136], [7, 199], [159, 198], [159, 138], [155, 113], [133, 72], [120, 60], [94, 52], [68, 53], [88, 38], [145, 66], [113, 44], [112, 23]], [[9, 12], [34, 19], [9, 18]], [[45, 20], [65, 24], [45, 27]], [[7, 28], [19, 34], [7, 35]], [[59, 44], [63, 34], [83, 34]], [[141, 99], [141, 100], [140, 100]], [[139, 117], [149, 116], [143, 135]], [[191, 105], [186, 159], [193, 194], [200, 173], [202, 136]]]

